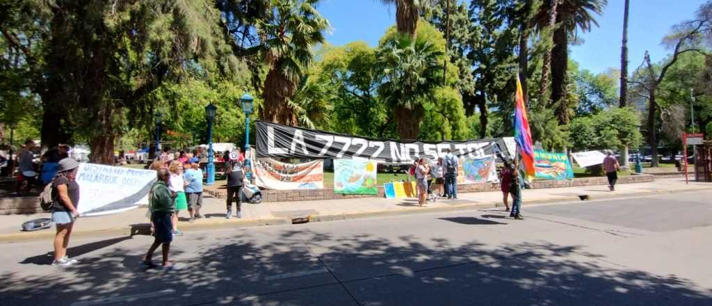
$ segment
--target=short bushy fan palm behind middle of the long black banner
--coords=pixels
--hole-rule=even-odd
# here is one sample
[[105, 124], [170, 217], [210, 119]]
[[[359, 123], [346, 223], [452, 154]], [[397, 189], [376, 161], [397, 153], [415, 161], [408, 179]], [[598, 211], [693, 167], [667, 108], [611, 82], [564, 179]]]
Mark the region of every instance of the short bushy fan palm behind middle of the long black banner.
[[424, 115], [423, 100], [434, 94], [442, 78], [443, 52], [424, 40], [399, 36], [378, 51], [385, 80], [379, 95], [392, 109], [401, 139], [416, 139]]

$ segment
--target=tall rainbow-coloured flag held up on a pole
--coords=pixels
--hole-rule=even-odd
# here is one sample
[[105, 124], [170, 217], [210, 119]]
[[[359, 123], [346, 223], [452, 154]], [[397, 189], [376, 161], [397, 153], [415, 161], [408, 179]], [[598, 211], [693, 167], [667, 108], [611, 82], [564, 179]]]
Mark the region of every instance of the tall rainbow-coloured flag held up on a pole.
[[535, 176], [534, 169], [534, 145], [532, 143], [532, 132], [529, 130], [529, 120], [527, 119], [527, 109], [524, 106], [524, 94], [522, 84], [519, 82], [517, 74], [517, 93], [515, 95], [516, 107], [514, 110], [514, 140], [517, 142], [518, 152], [522, 159], [520, 166], [524, 169], [527, 181]]

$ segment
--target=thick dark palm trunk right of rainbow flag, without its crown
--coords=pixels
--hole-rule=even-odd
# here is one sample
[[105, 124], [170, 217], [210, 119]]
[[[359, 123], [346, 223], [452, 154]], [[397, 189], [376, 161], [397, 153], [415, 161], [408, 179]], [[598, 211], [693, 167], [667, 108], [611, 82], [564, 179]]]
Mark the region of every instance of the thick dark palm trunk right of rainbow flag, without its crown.
[[559, 125], [569, 122], [568, 103], [566, 102], [566, 73], [568, 68], [568, 35], [561, 25], [554, 31], [554, 48], [551, 51], [551, 101], [557, 105]]

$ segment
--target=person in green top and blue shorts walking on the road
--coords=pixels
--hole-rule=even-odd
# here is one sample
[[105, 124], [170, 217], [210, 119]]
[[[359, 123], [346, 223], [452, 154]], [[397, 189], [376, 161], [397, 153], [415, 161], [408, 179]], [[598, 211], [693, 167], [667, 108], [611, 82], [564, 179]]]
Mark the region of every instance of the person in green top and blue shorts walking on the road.
[[168, 261], [168, 251], [171, 247], [171, 241], [173, 241], [171, 219], [176, 209], [174, 201], [176, 193], [168, 189], [170, 177], [168, 169], [161, 168], [156, 173], [158, 181], [151, 187], [151, 193], [149, 194], [149, 209], [151, 210], [151, 223], [155, 228], [155, 239], [148, 249], [146, 257], [143, 258], [143, 264], [147, 265], [148, 268], [155, 268], [156, 265], [152, 263], [153, 252], [159, 245], [162, 245], [162, 266], [165, 269], [170, 269], [173, 268], [173, 265]]

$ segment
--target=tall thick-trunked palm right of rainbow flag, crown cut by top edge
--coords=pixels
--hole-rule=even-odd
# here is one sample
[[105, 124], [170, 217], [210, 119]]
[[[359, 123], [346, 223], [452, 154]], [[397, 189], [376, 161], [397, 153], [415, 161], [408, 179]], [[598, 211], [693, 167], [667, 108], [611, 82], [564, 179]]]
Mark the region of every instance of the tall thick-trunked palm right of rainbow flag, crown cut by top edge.
[[556, 105], [556, 114], [561, 125], [570, 120], [570, 105], [566, 101], [569, 36], [574, 35], [577, 29], [587, 32], [591, 30], [592, 25], [598, 26], [593, 14], [600, 15], [607, 3], [607, 0], [557, 0], [547, 1], [541, 6], [543, 14], [551, 16], [551, 6], [556, 5], [551, 60], [551, 102]]

